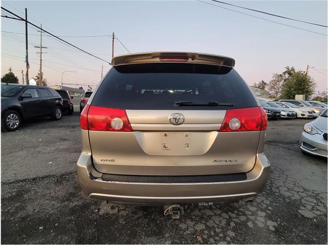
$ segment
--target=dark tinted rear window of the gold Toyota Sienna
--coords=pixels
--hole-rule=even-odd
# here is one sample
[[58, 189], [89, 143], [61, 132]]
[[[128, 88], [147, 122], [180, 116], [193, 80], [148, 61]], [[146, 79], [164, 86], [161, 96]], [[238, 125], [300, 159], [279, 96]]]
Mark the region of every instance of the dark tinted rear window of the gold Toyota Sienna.
[[216, 101], [227, 106], [181, 110], [226, 110], [257, 106], [250, 89], [230, 67], [201, 64], [133, 64], [113, 67], [92, 105], [135, 110], [176, 110], [176, 101]]

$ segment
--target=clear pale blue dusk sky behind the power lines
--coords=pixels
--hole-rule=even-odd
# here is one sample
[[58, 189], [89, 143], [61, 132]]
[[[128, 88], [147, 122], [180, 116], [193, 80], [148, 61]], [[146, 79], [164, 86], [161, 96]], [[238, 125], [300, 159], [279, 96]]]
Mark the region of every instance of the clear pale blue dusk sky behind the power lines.
[[[327, 90], [327, 28], [277, 18], [249, 10], [202, 0], [224, 8], [255, 15], [270, 21], [322, 33], [320, 35], [264, 21], [196, 0], [190, 1], [2, 1], [2, 7], [25, 16], [35, 25], [58, 36], [111, 35], [131, 53], [150, 51], [189, 51], [233, 57], [236, 70], [249, 84], [270, 81], [273, 73], [286, 66], [305, 70], [317, 83], [317, 91]], [[327, 26], [326, 1], [228, 1], [277, 15]], [[1, 18], [2, 75], [12, 67], [22, 83], [25, 73], [25, 23]], [[23, 34], [14, 34], [23, 33]], [[40, 36], [28, 28], [29, 77], [39, 69]], [[62, 37], [96, 56], [111, 59], [111, 37]], [[88, 54], [43, 37], [43, 73], [48, 85], [86, 90], [97, 85], [110, 65]], [[115, 40], [114, 54], [128, 51]], [[67, 85], [74, 84], [74, 85]], [[77, 85], [78, 84], [78, 85]]]

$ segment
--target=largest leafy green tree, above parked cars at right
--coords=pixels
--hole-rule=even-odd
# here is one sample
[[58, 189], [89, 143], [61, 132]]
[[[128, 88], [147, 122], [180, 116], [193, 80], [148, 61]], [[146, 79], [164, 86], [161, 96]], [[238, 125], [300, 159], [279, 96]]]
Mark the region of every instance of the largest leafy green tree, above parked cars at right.
[[[305, 99], [313, 95], [316, 83], [312, 77], [306, 75], [304, 71], [288, 69], [284, 71], [286, 77], [281, 90], [281, 98], [294, 99], [296, 94], [304, 94]], [[293, 67], [292, 67], [293, 68]]]

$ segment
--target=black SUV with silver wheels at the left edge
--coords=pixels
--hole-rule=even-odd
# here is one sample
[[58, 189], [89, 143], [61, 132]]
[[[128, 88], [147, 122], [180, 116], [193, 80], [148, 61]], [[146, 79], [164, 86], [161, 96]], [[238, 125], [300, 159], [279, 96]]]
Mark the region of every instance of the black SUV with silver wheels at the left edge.
[[29, 117], [61, 118], [63, 99], [53, 89], [42, 86], [1, 84], [2, 128], [14, 131]]

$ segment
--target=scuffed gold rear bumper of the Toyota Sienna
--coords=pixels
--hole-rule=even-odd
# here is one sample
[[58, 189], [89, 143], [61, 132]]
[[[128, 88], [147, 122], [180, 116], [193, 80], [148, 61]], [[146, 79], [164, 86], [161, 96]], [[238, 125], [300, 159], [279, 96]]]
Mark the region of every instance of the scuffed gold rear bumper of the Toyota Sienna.
[[[91, 161], [91, 153], [82, 152], [77, 174], [83, 191], [92, 198], [120, 203], [170, 205], [177, 203], [226, 202], [258, 195], [265, 186], [270, 162], [257, 154], [254, 168], [246, 180], [230, 182], [156, 183], [104, 181]], [[91, 173], [91, 176], [90, 176]]]

